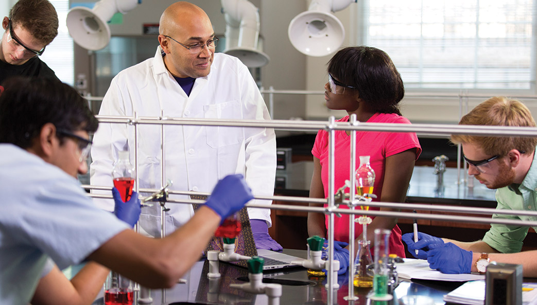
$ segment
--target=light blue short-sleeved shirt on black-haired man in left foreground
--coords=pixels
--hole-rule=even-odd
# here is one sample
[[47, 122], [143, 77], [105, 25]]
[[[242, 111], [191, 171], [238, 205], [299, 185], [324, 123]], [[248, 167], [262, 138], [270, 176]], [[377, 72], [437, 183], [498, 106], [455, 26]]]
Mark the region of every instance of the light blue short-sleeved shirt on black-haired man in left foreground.
[[0, 144], [0, 182], [0, 304], [29, 303], [49, 257], [63, 269], [129, 229], [74, 177], [17, 146]]

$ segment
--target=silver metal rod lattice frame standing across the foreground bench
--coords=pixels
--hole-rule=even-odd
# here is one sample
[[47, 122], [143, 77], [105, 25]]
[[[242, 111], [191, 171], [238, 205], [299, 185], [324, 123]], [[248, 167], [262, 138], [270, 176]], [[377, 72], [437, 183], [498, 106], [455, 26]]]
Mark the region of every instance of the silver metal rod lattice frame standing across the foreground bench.
[[[394, 218], [408, 218], [408, 219], [435, 219], [435, 220], [450, 220], [458, 222], [474, 222], [474, 223], [484, 223], [484, 224], [506, 224], [506, 225], [521, 225], [521, 226], [536, 226], [537, 221], [521, 221], [521, 220], [498, 220], [498, 219], [488, 219], [480, 217], [468, 217], [468, 216], [458, 216], [458, 215], [440, 215], [440, 214], [415, 214], [409, 212], [392, 212], [392, 211], [373, 211], [373, 210], [360, 210], [355, 211], [352, 206], [361, 206], [368, 205], [374, 207], [391, 207], [395, 209], [419, 209], [419, 210], [429, 210], [429, 211], [443, 211], [451, 213], [477, 213], [477, 214], [511, 214], [511, 215], [530, 215], [537, 217], [537, 212], [527, 212], [527, 211], [496, 211], [495, 209], [489, 208], [478, 208], [478, 207], [452, 207], [452, 206], [442, 206], [442, 205], [424, 205], [424, 204], [403, 204], [403, 203], [388, 203], [388, 202], [360, 202], [359, 200], [343, 200], [343, 204], [350, 204], [351, 209], [339, 209], [335, 204], [334, 191], [334, 135], [336, 130], [345, 130], [351, 132], [351, 139], [355, 141], [355, 133], [357, 131], [389, 131], [389, 132], [422, 132], [429, 133], [432, 135], [451, 135], [452, 133], [462, 133], [467, 135], [482, 135], [482, 136], [519, 136], [519, 137], [537, 137], [537, 128], [527, 128], [527, 127], [494, 127], [494, 126], [476, 126], [476, 125], [449, 125], [449, 124], [389, 124], [389, 123], [362, 123], [358, 122], [355, 119], [355, 116], [351, 116], [349, 122], [335, 122], [335, 118], [332, 116], [329, 118], [328, 123], [323, 121], [288, 121], [288, 120], [272, 120], [272, 121], [262, 121], [262, 120], [206, 120], [206, 119], [194, 119], [194, 118], [171, 118], [165, 117], [137, 117], [135, 114], [134, 117], [119, 117], [119, 116], [97, 116], [100, 123], [120, 123], [132, 125], [134, 128], [134, 166], [136, 168], [135, 176], [135, 188], [139, 185], [139, 176], [138, 176], [138, 160], [137, 160], [137, 144], [138, 144], [138, 125], [140, 124], [157, 124], [161, 125], [161, 187], [165, 184], [165, 158], [164, 158], [164, 148], [165, 148], [165, 135], [164, 135], [164, 125], [202, 125], [202, 126], [226, 126], [226, 127], [251, 127], [251, 128], [274, 128], [277, 130], [307, 130], [307, 131], [317, 131], [324, 129], [329, 133], [329, 185], [328, 192], [329, 196], [327, 199], [319, 198], [308, 198], [308, 197], [292, 197], [292, 196], [256, 196], [253, 194], [256, 199], [269, 199], [269, 200], [279, 200], [282, 202], [302, 202], [302, 203], [314, 203], [318, 205], [327, 206], [292, 206], [292, 205], [275, 205], [271, 204], [261, 205], [261, 204], [246, 204], [248, 207], [258, 207], [271, 210], [289, 210], [289, 211], [304, 211], [304, 212], [318, 212], [329, 215], [329, 235], [328, 242], [333, 244], [333, 221], [334, 216], [338, 213], [340, 214], [350, 214], [350, 228], [353, 226], [351, 222], [355, 214], [360, 215], [373, 215], [373, 216], [383, 216], [383, 217], [394, 217]], [[351, 145], [351, 170], [350, 178], [351, 181], [351, 197], [354, 198], [354, 185], [355, 177], [353, 175], [355, 163], [355, 143], [352, 142]], [[82, 185], [86, 189], [99, 189], [99, 190], [111, 190], [110, 187], [95, 186], [95, 185]], [[153, 193], [158, 191], [156, 189], [135, 189], [136, 191], [141, 192], [150, 192]], [[179, 195], [208, 195], [207, 193], [194, 192], [194, 191], [170, 191], [170, 194], [179, 194]], [[106, 195], [95, 195], [90, 194], [92, 197], [100, 198], [112, 198], [112, 196]], [[172, 204], [193, 204], [193, 203], [204, 203], [202, 200], [193, 200], [193, 199], [184, 199], [184, 200], [169, 200], [168, 203]], [[161, 212], [161, 235], [165, 235], [164, 231], [164, 211]], [[354, 300], [353, 295], [353, 266], [354, 266], [354, 230], [350, 230], [350, 247], [351, 247], [351, 259], [349, 264], [349, 300]], [[329, 261], [332, 262], [333, 259], [333, 248], [329, 247]], [[328, 273], [328, 287], [333, 287], [337, 279], [333, 278], [331, 273]], [[333, 304], [333, 289], [328, 289], [328, 304]]]

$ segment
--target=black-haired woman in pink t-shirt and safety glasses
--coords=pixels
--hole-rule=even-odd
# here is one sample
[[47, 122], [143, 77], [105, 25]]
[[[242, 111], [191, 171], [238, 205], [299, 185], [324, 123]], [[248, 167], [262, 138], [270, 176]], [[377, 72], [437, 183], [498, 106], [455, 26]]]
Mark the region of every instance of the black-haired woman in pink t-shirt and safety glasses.
[[[349, 114], [338, 122], [349, 121], [355, 114], [357, 120], [367, 123], [403, 123], [410, 121], [401, 116], [398, 103], [403, 99], [403, 81], [388, 54], [373, 47], [348, 47], [338, 51], [328, 63], [329, 81], [324, 85], [324, 99], [329, 109], [346, 110]], [[311, 178], [310, 197], [328, 197], [328, 132], [317, 133], [313, 150], [314, 172]], [[404, 202], [414, 163], [422, 152], [416, 133], [361, 131], [356, 134], [356, 154], [359, 166], [360, 155], [369, 155], [371, 167], [375, 171], [373, 193], [375, 201]], [[342, 187], [349, 180], [350, 131], [335, 132], [334, 189]], [[348, 192], [349, 189], [346, 190]], [[341, 205], [340, 208], [346, 206]], [[374, 209], [373, 207], [371, 208]], [[377, 208], [378, 210], [378, 208]], [[393, 209], [380, 209], [390, 211]], [[397, 219], [372, 217], [368, 225], [367, 239], [373, 241], [374, 229], [391, 230], [390, 252], [405, 256], [401, 241], [401, 229]], [[328, 217], [321, 213], [308, 214], [309, 236], [326, 237]], [[355, 248], [362, 239], [362, 226], [354, 227]], [[336, 217], [334, 222], [336, 241], [349, 241], [349, 215]], [[340, 244], [339, 244], [340, 245]], [[340, 264], [344, 273], [349, 261], [346, 248], [335, 247], [336, 258], [346, 263]]]

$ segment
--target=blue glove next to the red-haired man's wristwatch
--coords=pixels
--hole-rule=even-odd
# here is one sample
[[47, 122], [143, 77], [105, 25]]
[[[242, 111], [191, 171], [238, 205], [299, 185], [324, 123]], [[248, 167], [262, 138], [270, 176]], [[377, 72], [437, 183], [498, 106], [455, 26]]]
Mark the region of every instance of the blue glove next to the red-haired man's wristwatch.
[[431, 244], [427, 263], [431, 269], [442, 273], [470, 273], [473, 253], [455, 246], [454, 243]]

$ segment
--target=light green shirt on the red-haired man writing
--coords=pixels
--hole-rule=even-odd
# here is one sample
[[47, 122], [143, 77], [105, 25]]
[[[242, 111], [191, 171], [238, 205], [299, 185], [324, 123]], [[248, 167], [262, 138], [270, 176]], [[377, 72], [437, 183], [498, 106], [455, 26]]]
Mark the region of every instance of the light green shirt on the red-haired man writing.
[[[497, 210], [524, 210], [537, 211], [535, 198], [537, 197], [537, 153], [533, 155], [531, 167], [529, 167], [524, 181], [520, 185], [511, 184], [496, 191]], [[498, 215], [493, 214], [492, 219], [520, 219], [536, 221], [537, 217]], [[490, 247], [502, 253], [520, 252], [523, 241], [528, 234], [529, 227], [491, 224], [489, 232], [483, 237], [483, 241]], [[537, 230], [537, 227], [533, 227]]]

